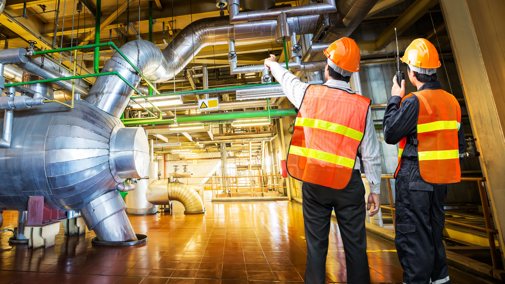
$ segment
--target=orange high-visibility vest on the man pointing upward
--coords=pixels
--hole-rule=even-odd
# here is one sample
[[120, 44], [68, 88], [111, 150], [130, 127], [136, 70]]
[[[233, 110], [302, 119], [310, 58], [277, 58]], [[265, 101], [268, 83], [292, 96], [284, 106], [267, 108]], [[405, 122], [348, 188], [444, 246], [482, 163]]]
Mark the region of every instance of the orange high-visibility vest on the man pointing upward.
[[344, 188], [365, 132], [370, 99], [328, 86], [309, 86], [294, 123], [288, 173], [301, 181]]

